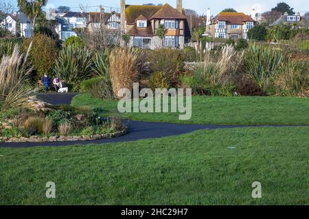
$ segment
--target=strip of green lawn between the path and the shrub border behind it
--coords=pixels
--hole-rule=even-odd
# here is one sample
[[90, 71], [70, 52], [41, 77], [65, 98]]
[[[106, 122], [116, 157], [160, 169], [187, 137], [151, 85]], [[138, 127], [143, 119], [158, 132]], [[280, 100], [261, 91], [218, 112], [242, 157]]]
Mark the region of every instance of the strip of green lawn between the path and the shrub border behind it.
[[[89, 94], [76, 96], [72, 105], [117, 110], [117, 101], [94, 99]], [[308, 125], [309, 99], [277, 96], [193, 96], [192, 118], [179, 120], [174, 113], [126, 113], [124, 118], [167, 123], [207, 125]]]

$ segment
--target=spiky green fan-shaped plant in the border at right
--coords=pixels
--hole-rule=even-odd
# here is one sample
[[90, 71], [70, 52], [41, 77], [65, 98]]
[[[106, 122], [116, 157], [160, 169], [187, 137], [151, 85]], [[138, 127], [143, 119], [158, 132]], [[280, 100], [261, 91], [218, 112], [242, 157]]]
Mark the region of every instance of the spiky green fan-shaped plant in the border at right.
[[258, 44], [249, 44], [243, 53], [245, 72], [255, 81], [259, 88], [273, 77], [275, 70], [284, 63], [286, 57], [280, 51]]

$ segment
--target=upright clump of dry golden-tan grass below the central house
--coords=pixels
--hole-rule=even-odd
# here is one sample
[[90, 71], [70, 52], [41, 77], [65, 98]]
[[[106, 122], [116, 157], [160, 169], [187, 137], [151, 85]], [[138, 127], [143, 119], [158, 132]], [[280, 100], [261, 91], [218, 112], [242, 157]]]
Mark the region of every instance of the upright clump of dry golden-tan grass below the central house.
[[109, 73], [115, 96], [122, 88], [133, 88], [133, 83], [137, 81], [139, 55], [140, 51], [134, 49], [116, 48], [111, 51]]

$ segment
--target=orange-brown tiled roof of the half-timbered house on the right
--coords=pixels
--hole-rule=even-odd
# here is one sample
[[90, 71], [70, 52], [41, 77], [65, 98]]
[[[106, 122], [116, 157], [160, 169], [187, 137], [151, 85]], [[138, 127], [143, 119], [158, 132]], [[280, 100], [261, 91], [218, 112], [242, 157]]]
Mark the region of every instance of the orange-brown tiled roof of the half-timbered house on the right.
[[213, 21], [226, 21], [227, 23], [242, 25], [244, 22], [256, 22], [251, 16], [242, 12], [220, 12]]

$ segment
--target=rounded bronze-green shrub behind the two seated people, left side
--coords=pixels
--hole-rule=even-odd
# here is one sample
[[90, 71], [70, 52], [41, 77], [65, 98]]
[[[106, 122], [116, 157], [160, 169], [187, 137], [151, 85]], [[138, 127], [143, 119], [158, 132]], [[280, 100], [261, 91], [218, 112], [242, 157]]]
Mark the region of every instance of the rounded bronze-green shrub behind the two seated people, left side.
[[23, 48], [27, 49], [31, 42], [30, 61], [38, 75], [52, 73], [57, 54], [56, 42], [44, 34], [36, 34], [24, 40]]

